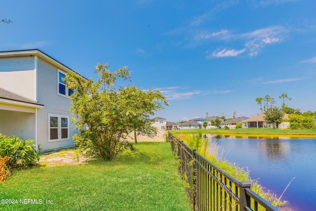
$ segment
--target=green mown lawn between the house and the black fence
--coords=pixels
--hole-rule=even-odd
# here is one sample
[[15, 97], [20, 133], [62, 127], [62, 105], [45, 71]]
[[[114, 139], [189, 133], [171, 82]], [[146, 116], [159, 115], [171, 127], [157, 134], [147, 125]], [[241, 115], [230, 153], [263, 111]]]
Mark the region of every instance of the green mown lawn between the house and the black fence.
[[[169, 143], [140, 142], [136, 148], [138, 152], [112, 162], [15, 171], [0, 183], [0, 200], [17, 203], [0, 204], [0, 210], [190, 211]], [[42, 204], [22, 204], [20, 199]]]

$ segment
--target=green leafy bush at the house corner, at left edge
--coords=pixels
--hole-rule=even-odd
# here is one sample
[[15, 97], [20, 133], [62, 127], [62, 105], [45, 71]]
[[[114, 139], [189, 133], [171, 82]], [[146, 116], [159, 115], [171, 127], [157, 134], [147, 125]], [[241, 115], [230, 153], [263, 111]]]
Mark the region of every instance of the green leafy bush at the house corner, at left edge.
[[0, 157], [10, 157], [9, 165], [13, 169], [33, 166], [40, 160], [33, 141], [35, 140], [21, 140], [15, 136], [13, 138], [0, 136]]

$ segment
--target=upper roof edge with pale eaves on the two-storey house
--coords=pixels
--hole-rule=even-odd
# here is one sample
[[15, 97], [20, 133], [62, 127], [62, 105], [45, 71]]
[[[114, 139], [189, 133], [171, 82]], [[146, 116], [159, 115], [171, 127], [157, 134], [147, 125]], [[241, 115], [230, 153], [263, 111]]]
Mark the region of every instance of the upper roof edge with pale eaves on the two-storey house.
[[[20, 57], [20, 56], [38, 56], [41, 59], [55, 65], [59, 69], [62, 69], [66, 72], [73, 72], [77, 73], [76, 71], [70, 69], [66, 65], [60, 63], [53, 57], [47, 55], [46, 53], [40, 51], [39, 49], [27, 49], [27, 50], [8, 50], [8, 51], [0, 51], [0, 58], [5, 58], [5, 57]], [[87, 81], [86, 78], [81, 76], [79, 73], [77, 73], [84, 81]]]

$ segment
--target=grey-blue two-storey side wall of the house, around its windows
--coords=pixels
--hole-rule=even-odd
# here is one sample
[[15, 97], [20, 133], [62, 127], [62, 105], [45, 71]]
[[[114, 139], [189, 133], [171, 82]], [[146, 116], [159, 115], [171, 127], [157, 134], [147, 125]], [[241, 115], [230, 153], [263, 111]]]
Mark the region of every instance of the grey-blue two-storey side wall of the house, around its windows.
[[77, 133], [77, 130], [75, 129], [75, 123], [71, 124], [70, 120], [68, 140], [48, 141], [48, 114], [74, 117], [68, 111], [71, 107], [71, 99], [57, 94], [57, 67], [39, 58], [37, 77], [38, 101], [44, 104], [44, 108], [38, 109], [38, 144], [42, 144], [41, 151], [73, 146], [72, 137]]

